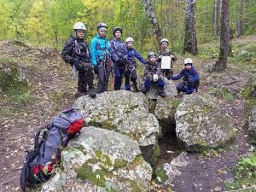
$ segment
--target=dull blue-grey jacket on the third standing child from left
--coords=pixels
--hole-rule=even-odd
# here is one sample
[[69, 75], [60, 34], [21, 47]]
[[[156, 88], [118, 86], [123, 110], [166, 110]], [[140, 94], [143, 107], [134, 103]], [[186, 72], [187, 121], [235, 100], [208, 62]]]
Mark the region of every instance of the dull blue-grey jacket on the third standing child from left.
[[110, 41], [111, 45], [111, 59], [115, 62], [119, 60], [125, 60], [127, 61], [128, 53], [125, 46], [125, 43], [118, 38], [113, 38], [112, 41]]

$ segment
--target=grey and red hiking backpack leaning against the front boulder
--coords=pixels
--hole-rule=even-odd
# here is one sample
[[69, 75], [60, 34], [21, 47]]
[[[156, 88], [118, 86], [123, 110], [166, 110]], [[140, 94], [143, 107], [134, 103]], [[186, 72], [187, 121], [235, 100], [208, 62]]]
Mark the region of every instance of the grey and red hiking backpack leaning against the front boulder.
[[27, 151], [26, 162], [20, 175], [20, 186], [33, 187], [45, 183], [51, 177], [61, 159], [61, 148], [70, 138], [79, 134], [84, 126], [83, 115], [71, 108], [63, 111], [54, 121], [39, 129], [35, 136], [34, 149]]

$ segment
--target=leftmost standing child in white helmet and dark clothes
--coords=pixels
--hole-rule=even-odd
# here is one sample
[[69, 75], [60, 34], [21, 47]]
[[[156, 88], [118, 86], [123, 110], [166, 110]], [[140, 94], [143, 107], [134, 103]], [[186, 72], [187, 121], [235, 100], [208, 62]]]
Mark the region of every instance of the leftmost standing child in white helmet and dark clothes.
[[77, 22], [73, 26], [74, 37], [70, 38], [61, 51], [61, 58], [73, 67], [74, 80], [76, 80], [76, 71], [79, 71], [78, 94], [86, 94], [87, 85], [89, 95], [96, 96], [96, 89], [93, 84], [94, 73], [90, 64], [90, 50], [87, 42], [84, 40], [86, 27], [84, 23]]

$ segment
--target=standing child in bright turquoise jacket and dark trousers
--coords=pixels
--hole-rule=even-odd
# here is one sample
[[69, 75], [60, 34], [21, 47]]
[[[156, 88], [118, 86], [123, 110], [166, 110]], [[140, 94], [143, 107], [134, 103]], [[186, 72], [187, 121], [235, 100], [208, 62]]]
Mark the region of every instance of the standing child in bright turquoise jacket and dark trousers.
[[97, 93], [108, 91], [109, 75], [113, 71], [110, 58], [110, 44], [107, 38], [108, 26], [99, 23], [96, 37], [90, 43], [91, 62], [98, 76]]

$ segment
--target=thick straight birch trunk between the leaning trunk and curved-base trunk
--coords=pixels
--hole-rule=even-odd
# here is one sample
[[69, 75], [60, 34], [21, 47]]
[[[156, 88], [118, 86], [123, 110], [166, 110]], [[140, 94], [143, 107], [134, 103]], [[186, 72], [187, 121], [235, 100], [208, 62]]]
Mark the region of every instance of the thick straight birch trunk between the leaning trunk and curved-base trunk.
[[186, 0], [185, 38], [183, 53], [198, 54], [195, 31], [195, 0]]

